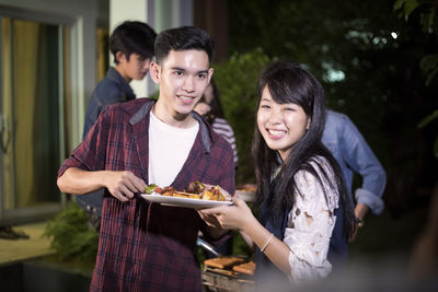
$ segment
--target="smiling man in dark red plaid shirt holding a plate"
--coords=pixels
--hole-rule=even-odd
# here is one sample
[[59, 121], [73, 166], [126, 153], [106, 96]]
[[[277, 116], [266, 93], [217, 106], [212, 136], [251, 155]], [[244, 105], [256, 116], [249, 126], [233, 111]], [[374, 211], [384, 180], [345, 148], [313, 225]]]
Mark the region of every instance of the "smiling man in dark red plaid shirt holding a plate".
[[223, 241], [187, 208], [151, 203], [147, 184], [187, 188], [199, 180], [234, 192], [231, 145], [195, 112], [212, 75], [212, 42], [196, 27], [162, 32], [150, 75], [157, 102], [107, 106], [58, 173], [64, 192], [105, 188], [91, 291], [200, 291], [198, 231]]

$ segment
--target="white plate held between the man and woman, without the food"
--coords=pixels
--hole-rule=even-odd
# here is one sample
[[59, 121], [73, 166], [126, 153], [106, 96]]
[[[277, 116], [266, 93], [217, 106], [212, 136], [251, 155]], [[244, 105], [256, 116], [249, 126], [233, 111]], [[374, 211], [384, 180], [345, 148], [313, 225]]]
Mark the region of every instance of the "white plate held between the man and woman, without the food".
[[191, 198], [170, 197], [170, 196], [162, 196], [158, 192], [152, 192], [151, 195], [141, 194], [141, 197], [143, 197], [148, 201], [158, 202], [165, 206], [184, 207], [193, 209], [203, 209], [203, 208], [211, 208], [223, 205], [232, 205], [231, 201], [210, 201], [210, 200], [200, 200]]

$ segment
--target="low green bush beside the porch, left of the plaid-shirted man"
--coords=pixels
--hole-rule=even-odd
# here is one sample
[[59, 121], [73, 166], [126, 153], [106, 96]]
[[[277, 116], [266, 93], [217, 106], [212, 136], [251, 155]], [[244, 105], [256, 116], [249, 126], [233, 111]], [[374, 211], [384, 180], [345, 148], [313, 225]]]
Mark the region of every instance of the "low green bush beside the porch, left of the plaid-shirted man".
[[89, 229], [88, 222], [88, 214], [76, 202], [71, 202], [48, 221], [43, 236], [51, 238], [50, 247], [60, 259], [93, 261], [97, 253], [99, 234], [94, 229]]

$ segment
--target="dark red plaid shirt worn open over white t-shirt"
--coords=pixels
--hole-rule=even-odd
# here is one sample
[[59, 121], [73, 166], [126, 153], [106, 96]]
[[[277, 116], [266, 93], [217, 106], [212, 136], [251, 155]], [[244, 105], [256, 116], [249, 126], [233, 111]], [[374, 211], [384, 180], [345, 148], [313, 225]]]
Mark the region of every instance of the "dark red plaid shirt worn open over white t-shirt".
[[[149, 113], [153, 101], [111, 105], [60, 167], [131, 171], [148, 184]], [[199, 115], [199, 132], [172, 186], [199, 180], [234, 192], [233, 151]], [[177, 142], [177, 141], [175, 141]], [[200, 291], [194, 255], [206, 224], [193, 209], [150, 203], [139, 194], [127, 202], [105, 189], [91, 291]]]

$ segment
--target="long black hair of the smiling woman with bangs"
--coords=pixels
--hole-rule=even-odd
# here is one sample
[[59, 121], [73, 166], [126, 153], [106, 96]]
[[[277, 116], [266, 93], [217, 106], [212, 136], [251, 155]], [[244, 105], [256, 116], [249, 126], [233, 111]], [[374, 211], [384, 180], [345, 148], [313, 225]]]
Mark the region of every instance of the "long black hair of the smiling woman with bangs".
[[[331, 152], [322, 144], [321, 137], [325, 126], [325, 95], [320, 82], [307, 70], [292, 61], [277, 61], [269, 65], [262, 73], [258, 84], [258, 103], [265, 86], [268, 87], [273, 100], [279, 104], [293, 103], [300, 105], [311, 122], [304, 136], [293, 145], [284, 162], [277, 177], [277, 184], [272, 185], [272, 176], [281, 164], [277, 151], [269, 149], [255, 124], [252, 145], [255, 174], [257, 178], [256, 207], [269, 206], [268, 211], [283, 214], [295, 205], [293, 194], [299, 192], [295, 175], [306, 171], [314, 175], [321, 183], [328, 182], [328, 187], [339, 194], [345, 218], [345, 231], [349, 237], [355, 229], [351, 202], [344, 182], [343, 172]], [[334, 182], [324, 167], [319, 166], [316, 156], [324, 157], [334, 171]], [[314, 167], [319, 167], [319, 172]], [[320, 177], [321, 173], [324, 177]], [[274, 187], [274, 191], [270, 189]], [[327, 199], [327, 195], [325, 194]]]

